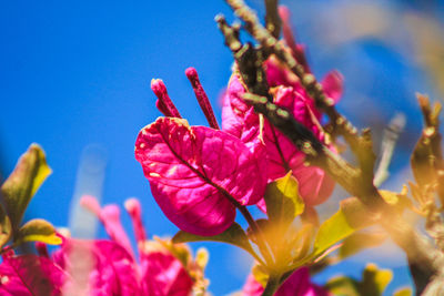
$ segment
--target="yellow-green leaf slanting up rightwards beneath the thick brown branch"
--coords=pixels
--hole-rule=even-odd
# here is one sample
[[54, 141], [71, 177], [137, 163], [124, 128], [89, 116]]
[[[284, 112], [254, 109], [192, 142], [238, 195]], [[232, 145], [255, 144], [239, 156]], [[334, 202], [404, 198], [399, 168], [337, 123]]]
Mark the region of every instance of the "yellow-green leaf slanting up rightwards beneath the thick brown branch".
[[340, 211], [321, 224], [314, 239], [313, 256], [316, 257], [327, 248], [353, 234], [355, 231], [376, 222], [356, 197], [349, 197], [340, 203]]

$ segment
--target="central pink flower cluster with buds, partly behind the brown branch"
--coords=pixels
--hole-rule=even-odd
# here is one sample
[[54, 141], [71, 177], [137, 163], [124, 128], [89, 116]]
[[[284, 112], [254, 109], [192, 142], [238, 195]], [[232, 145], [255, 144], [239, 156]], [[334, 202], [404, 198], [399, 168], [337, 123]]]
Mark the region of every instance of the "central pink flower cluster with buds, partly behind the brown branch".
[[[293, 40], [287, 11], [281, 9], [281, 16], [286, 49], [301, 60], [303, 48]], [[304, 60], [301, 63], [310, 71]], [[273, 102], [287, 109], [319, 140], [326, 142], [322, 113], [299, 79], [273, 57], [264, 62], [264, 69]], [[153, 80], [157, 106], [167, 118], [143, 127], [135, 142], [135, 159], [150, 181], [151, 192], [179, 228], [211, 236], [230, 227], [236, 205], [256, 204], [266, 212], [263, 200], [266, 184], [290, 170], [307, 206], [317, 205], [331, 195], [334, 182], [325, 172], [304, 165], [304, 155], [286, 136], [266, 120], [261, 124], [253, 106], [242, 99], [246, 86], [236, 72], [223, 96], [222, 130], [195, 69], [188, 69], [185, 74], [211, 127], [190, 126], [163, 82]], [[329, 73], [322, 85], [329, 98], [339, 100], [342, 76], [337, 72]]]

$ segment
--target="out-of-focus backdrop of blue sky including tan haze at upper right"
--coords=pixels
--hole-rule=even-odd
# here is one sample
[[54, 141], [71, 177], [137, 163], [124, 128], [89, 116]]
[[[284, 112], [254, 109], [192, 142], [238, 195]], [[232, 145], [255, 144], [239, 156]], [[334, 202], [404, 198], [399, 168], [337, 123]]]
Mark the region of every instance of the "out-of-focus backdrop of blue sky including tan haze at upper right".
[[[262, 1], [246, 2], [263, 16]], [[337, 69], [345, 76], [339, 109], [357, 126], [372, 126], [376, 150], [390, 120], [405, 114], [391, 177], [383, 184], [400, 191], [412, 180], [406, 167], [422, 127], [415, 92], [444, 98], [444, 1], [282, 3], [292, 12], [296, 39], [306, 45], [314, 73]], [[28, 218], [43, 217], [91, 237], [94, 221], [75, 206], [80, 195], [119, 204], [138, 196], [151, 235], [175, 233], [151, 197], [133, 143], [138, 131], [160, 115], [149, 89], [152, 78], [164, 80], [184, 118], [205, 124], [184, 75], [195, 67], [220, 113], [232, 59], [213, 21], [219, 12], [234, 19], [222, 0], [0, 3], [0, 176], [12, 171], [31, 142], [43, 146], [53, 170]], [[341, 197], [346, 195], [337, 190], [322, 211], [335, 210]], [[129, 227], [124, 214], [122, 220]], [[104, 236], [103, 229], [98, 235]], [[231, 246], [204, 245], [211, 252], [211, 292], [240, 288], [252, 265], [248, 255]], [[324, 283], [340, 273], [359, 277], [364, 262], [373, 261], [394, 269], [390, 294], [410, 284], [403, 259], [386, 243], [315, 279]]]

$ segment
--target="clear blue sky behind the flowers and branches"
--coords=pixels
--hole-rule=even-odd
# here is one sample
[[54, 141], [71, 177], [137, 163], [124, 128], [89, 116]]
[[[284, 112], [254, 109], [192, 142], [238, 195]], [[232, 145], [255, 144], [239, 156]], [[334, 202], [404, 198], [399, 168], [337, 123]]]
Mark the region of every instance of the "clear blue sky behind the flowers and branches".
[[[315, 73], [323, 75], [336, 68], [345, 74], [350, 84], [340, 103], [341, 110], [359, 120], [366, 114], [363, 108], [372, 108], [372, 114], [380, 119], [375, 121], [379, 131], [397, 109], [411, 116], [411, 133], [402, 137], [405, 146], [394, 159], [393, 170], [401, 170], [421, 126], [415, 119], [418, 112], [413, 90], [436, 93], [424, 78], [424, 69], [412, 65], [396, 47], [393, 49], [369, 35], [329, 47], [332, 43], [316, 34], [322, 25], [316, 27], [315, 17], [325, 16], [316, 9], [324, 6], [326, 10], [333, 2], [346, 4], [347, 1], [283, 2], [295, 16], [294, 24], [309, 45]], [[259, 3], [252, 2], [260, 9]], [[398, 2], [393, 3], [394, 7], [387, 8], [391, 11], [405, 10]], [[82, 151], [92, 145], [107, 163], [102, 202], [122, 204], [127, 197], [137, 196], [142, 202], [150, 235], [175, 233], [176, 228], [151, 196], [148, 181], [134, 160], [133, 145], [139, 130], [161, 115], [150, 90], [152, 78], [163, 79], [170, 96], [191, 124], [206, 124], [184, 75], [188, 67], [195, 67], [215, 112], [220, 113], [218, 100], [230, 78], [232, 63], [213, 20], [220, 12], [233, 19], [222, 0], [0, 3], [2, 174], [11, 172], [19, 155], [32, 142], [42, 145], [53, 170], [31, 202], [28, 217], [39, 216], [57, 226], [68, 225]], [[314, 13], [315, 17], [310, 17]], [[356, 76], [356, 73], [360, 74]], [[365, 73], [373, 81], [366, 89], [369, 80], [365, 84], [359, 79]], [[355, 94], [362, 89], [366, 92], [360, 98], [373, 99], [372, 105], [356, 101]], [[370, 123], [365, 118], [357, 124]], [[129, 226], [124, 215], [123, 222]], [[103, 236], [103, 231], [100, 235]], [[219, 244], [205, 246], [211, 252], [208, 276], [214, 295], [240, 288], [251, 264], [240, 258], [246, 254]], [[356, 274], [361, 266], [362, 263], [353, 262], [340, 269]], [[405, 283], [405, 269], [401, 268], [397, 274], [396, 283]]]

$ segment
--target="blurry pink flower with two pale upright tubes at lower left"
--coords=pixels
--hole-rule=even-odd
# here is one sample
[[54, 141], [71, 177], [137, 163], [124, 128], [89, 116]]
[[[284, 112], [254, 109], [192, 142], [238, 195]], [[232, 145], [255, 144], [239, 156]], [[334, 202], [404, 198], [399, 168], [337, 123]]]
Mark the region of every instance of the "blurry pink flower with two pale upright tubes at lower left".
[[[120, 210], [115, 205], [100, 207], [97, 200], [83, 196], [81, 203], [98, 215], [103, 223], [111, 241], [82, 242], [67, 239], [62, 249], [54, 255], [56, 261], [65, 269], [67, 264], [75, 264], [72, 256], [90, 256], [92, 258], [88, 286], [91, 295], [153, 295], [153, 296], [188, 296], [195, 282], [188, 272], [193, 264], [188, 249], [181, 245], [170, 249], [162, 241], [147, 241], [142, 224], [141, 206], [138, 200], [125, 202], [127, 212], [132, 220], [138, 244], [139, 264], [135, 252], [127, 244], [127, 233], [120, 223]], [[110, 208], [112, 211], [110, 211]], [[155, 246], [155, 247], [153, 247]], [[188, 254], [188, 262], [182, 263], [175, 255], [175, 248]], [[81, 261], [80, 261], [81, 262]], [[185, 265], [186, 266], [185, 266]], [[190, 266], [189, 266], [190, 265]], [[82, 266], [80, 266], [81, 268]], [[75, 290], [75, 287], [74, 287]]]

